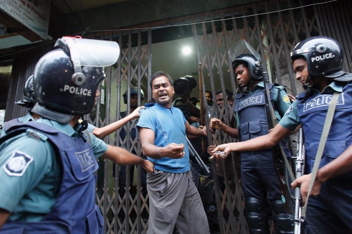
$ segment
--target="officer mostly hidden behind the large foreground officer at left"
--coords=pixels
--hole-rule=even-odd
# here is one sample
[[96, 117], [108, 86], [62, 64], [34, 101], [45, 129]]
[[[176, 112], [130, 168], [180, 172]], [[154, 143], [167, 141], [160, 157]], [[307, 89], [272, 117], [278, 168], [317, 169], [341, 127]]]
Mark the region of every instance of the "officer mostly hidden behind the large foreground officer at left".
[[6, 134], [6, 129], [11, 128], [15, 124], [26, 123], [26, 122], [38, 119], [40, 116], [31, 111], [36, 102], [37, 102], [37, 99], [35, 97], [34, 87], [33, 87], [33, 75], [31, 75], [26, 80], [26, 84], [24, 84], [23, 99], [18, 102], [15, 102], [15, 104], [22, 106], [22, 107], [29, 108], [29, 110], [26, 115], [24, 115], [20, 118], [16, 118], [16, 119], [5, 122], [4, 126], [3, 126], [3, 131], [1, 132], [1, 136], [4, 136]]

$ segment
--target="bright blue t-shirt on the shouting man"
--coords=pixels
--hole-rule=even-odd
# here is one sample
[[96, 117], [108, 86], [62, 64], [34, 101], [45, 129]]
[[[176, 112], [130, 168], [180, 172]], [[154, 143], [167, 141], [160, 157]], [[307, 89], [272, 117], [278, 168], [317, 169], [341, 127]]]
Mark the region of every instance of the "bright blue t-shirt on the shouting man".
[[148, 128], [154, 131], [154, 145], [165, 147], [170, 143], [183, 143], [185, 145], [185, 156], [180, 159], [168, 157], [153, 159], [148, 157], [155, 164], [158, 170], [184, 173], [190, 169], [189, 152], [186, 140], [186, 119], [179, 108], [166, 108], [155, 104], [141, 109], [141, 115], [137, 128]]

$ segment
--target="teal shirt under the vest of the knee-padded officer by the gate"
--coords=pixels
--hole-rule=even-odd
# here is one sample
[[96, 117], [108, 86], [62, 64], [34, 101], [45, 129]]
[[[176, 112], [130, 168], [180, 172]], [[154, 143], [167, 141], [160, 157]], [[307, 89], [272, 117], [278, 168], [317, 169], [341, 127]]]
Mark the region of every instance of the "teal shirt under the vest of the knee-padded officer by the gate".
[[[281, 86], [279, 86], [279, 87], [281, 87]], [[281, 120], [281, 118], [282, 118], [281, 116], [283, 116], [285, 114], [286, 110], [289, 109], [289, 107], [291, 105], [291, 102], [290, 102], [289, 97], [287, 96], [287, 93], [285, 92], [284, 89], [280, 89], [279, 87], [278, 86], [273, 87], [273, 91], [274, 91], [273, 101], [279, 102], [278, 106], [276, 106], [276, 105], [274, 106], [275, 117], [278, 122]], [[263, 81], [261, 81], [253, 87], [253, 91], [250, 93], [259, 93], [259, 92], [262, 92], [263, 89], [264, 89], [264, 83], [263, 83]], [[280, 92], [280, 100], [278, 100], [279, 92]], [[249, 91], [248, 91], [248, 93], [249, 93]], [[238, 113], [236, 113], [236, 117], [237, 117], [237, 127], [240, 127], [241, 123], [240, 123]]]

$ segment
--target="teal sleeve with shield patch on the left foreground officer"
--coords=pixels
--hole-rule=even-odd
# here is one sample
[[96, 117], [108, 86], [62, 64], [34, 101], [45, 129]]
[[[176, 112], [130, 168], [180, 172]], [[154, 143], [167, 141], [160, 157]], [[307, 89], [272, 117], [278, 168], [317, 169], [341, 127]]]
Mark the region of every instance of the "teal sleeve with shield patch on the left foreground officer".
[[48, 141], [23, 133], [0, 147], [0, 208], [13, 212], [21, 198], [51, 172], [55, 153]]

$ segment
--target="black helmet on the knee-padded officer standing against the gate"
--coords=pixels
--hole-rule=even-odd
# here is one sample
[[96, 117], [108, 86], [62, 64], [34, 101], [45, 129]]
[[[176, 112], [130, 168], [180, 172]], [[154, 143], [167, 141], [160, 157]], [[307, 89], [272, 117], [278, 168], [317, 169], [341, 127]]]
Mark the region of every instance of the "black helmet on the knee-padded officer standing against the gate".
[[235, 71], [235, 68], [243, 63], [247, 65], [251, 79], [263, 79], [261, 63], [254, 55], [248, 53], [238, 55], [232, 62], [232, 68]]

